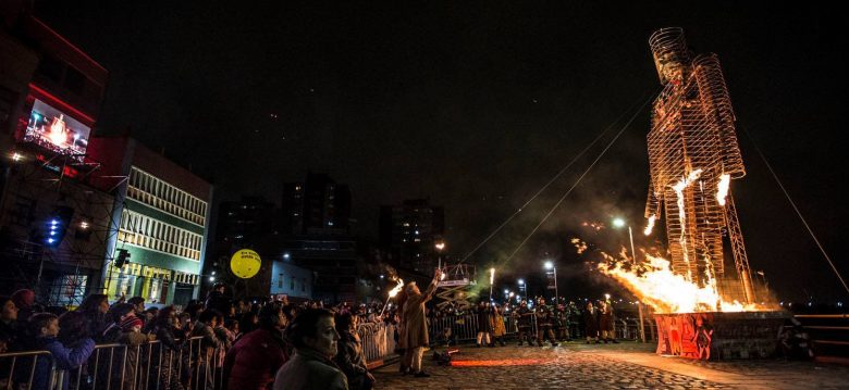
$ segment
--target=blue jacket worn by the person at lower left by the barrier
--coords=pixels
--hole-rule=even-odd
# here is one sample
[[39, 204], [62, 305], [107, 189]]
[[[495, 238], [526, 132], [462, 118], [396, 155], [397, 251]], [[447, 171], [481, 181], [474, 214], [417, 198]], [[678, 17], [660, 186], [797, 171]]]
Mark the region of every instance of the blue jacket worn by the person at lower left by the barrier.
[[[62, 390], [67, 390], [70, 382], [69, 370], [83, 365], [88, 360], [91, 352], [95, 351], [95, 340], [84, 339], [73, 348], [66, 348], [56, 338], [45, 338], [38, 340], [38, 347], [41, 350], [50, 352], [56, 362], [57, 376], [63, 376]], [[39, 357], [36, 363], [35, 374], [33, 375], [33, 390], [48, 390], [47, 386], [50, 379], [50, 360]]]

